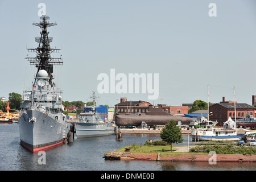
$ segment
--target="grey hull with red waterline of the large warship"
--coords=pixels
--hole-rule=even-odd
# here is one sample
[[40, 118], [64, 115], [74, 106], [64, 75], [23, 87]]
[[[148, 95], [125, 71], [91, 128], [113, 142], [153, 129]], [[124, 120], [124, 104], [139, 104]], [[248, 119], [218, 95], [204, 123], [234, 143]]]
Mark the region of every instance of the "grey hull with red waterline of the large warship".
[[[34, 118], [34, 122], [31, 118]], [[19, 119], [20, 144], [31, 152], [47, 150], [65, 143], [66, 129], [63, 123], [49, 115], [37, 110], [28, 110]]]

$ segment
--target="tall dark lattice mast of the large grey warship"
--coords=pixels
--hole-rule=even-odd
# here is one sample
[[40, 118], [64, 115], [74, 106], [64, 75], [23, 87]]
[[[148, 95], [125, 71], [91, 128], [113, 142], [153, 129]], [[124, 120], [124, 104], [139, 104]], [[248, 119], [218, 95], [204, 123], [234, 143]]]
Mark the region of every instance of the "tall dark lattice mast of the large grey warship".
[[[50, 44], [52, 42], [52, 37], [48, 37], [49, 32], [47, 31], [48, 27], [55, 26], [57, 23], [49, 23], [47, 20], [49, 16], [41, 16], [39, 23], [33, 23], [33, 25], [38, 26], [42, 29], [40, 32], [40, 37], [35, 37], [35, 42], [39, 43], [38, 48], [28, 48], [28, 52], [35, 52], [36, 57], [26, 57], [30, 61], [31, 65], [36, 65], [38, 71], [36, 72], [36, 77], [40, 70], [45, 70], [48, 73], [49, 85], [54, 88], [54, 83], [52, 82], [53, 76], [53, 65], [63, 65], [61, 57], [51, 57], [52, 52], [60, 52], [60, 49], [51, 48]], [[36, 80], [35, 80], [36, 81]]]

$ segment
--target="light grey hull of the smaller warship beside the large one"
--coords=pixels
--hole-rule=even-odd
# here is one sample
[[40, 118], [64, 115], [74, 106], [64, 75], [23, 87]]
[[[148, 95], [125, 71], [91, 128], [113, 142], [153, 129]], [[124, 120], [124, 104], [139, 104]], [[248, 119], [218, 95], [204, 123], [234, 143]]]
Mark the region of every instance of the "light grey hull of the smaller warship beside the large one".
[[115, 133], [115, 127], [112, 126], [112, 123], [74, 123], [77, 138], [102, 137]]

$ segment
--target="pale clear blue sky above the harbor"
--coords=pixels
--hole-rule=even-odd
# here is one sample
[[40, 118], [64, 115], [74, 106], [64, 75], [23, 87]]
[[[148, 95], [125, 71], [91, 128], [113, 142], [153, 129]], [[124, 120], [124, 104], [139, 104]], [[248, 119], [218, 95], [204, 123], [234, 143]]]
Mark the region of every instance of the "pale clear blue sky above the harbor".
[[[64, 101], [90, 101], [97, 76], [159, 73], [159, 98], [146, 94], [97, 94], [99, 104], [117, 99], [181, 105], [195, 100], [219, 102], [222, 96], [251, 104], [256, 94], [256, 2], [183, 1], [0, 1], [0, 97], [31, 87], [36, 69], [24, 59], [36, 48], [38, 4], [46, 4], [63, 66], [56, 66]], [[209, 3], [217, 16], [210, 17]], [[59, 56], [55, 54], [52, 56]], [[32, 53], [29, 54], [34, 56]], [[26, 74], [25, 74], [26, 71]], [[25, 78], [26, 77], [26, 78]], [[117, 82], [116, 82], [117, 83]], [[25, 85], [25, 86], [24, 86]], [[163, 98], [163, 100], [160, 100]]]

